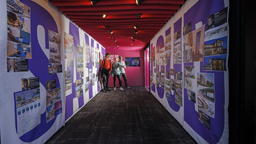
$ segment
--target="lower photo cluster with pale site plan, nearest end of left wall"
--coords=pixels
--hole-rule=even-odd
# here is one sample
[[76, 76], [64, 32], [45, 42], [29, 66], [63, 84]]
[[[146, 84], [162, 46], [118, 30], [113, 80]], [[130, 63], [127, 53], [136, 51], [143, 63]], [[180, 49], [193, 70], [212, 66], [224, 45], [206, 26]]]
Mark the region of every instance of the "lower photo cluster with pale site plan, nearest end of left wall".
[[15, 93], [18, 137], [41, 123], [39, 77], [23, 78], [22, 91]]

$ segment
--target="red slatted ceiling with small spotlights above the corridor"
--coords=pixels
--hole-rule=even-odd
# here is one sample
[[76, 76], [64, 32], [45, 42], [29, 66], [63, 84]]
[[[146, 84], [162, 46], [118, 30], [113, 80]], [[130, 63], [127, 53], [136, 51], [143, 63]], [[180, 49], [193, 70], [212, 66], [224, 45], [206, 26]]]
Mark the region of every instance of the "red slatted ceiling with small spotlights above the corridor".
[[103, 47], [122, 50], [143, 49], [184, 4], [184, 0], [144, 0], [138, 5], [135, 0], [98, 0], [94, 5], [90, 0], [49, 1]]

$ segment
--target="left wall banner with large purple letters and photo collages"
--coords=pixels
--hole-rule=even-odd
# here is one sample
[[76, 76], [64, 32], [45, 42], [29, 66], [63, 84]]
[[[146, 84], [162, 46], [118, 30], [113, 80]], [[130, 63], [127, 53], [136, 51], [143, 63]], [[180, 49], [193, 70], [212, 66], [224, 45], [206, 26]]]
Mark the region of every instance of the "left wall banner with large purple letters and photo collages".
[[1, 1], [0, 15], [1, 143], [44, 143], [101, 90], [105, 49], [48, 1]]

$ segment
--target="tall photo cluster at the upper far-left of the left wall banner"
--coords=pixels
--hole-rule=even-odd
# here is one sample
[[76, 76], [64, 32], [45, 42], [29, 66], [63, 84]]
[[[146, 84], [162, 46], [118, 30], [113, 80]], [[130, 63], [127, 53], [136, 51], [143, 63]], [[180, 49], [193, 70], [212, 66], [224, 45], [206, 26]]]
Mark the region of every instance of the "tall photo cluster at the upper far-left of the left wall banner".
[[17, 0], [7, 4], [7, 72], [28, 71], [31, 54], [30, 7]]

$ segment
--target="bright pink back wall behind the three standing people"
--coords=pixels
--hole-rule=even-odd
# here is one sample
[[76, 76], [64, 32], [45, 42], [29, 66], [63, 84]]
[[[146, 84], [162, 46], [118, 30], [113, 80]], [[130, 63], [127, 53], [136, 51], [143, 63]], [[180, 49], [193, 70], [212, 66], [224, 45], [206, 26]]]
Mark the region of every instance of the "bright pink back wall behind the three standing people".
[[[121, 55], [124, 61], [125, 57], [140, 57], [140, 66], [127, 66], [126, 76], [128, 86], [145, 86], [145, 54], [144, 50], [118, 50], [118, 49], [106, 49], [111, 55]], [[110, 76], [108, 86], [113, 87], [113, 77]], [[119, 87], [118, 79], [116, 78], [116, 87]], [[122, 87], [124, 85], [124, 79], [122, 78]]]

